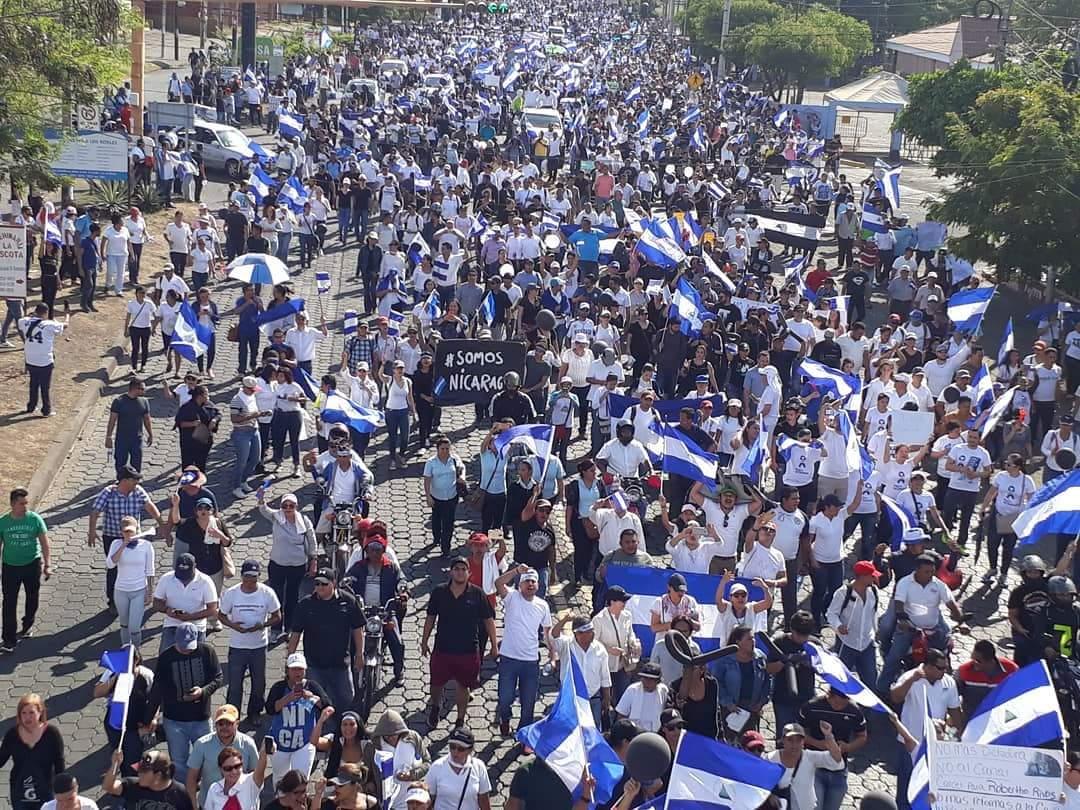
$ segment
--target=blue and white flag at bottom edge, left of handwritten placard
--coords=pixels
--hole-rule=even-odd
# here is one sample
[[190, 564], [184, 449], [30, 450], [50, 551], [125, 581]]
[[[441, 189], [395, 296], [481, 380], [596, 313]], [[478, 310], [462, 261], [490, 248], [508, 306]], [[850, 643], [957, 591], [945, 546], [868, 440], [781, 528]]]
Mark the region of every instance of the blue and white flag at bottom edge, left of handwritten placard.
[[784, 767], [687, 731], [675, 750], [665, 810], [743, 810], [765, 804]]

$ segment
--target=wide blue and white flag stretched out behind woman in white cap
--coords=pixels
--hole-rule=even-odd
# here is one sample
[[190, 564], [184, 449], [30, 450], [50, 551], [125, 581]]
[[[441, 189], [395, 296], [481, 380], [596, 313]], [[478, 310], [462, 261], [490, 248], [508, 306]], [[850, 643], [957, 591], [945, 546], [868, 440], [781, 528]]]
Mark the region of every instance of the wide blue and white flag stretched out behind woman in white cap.
[[[667, 579], [675, 571], [671, 568], [653, 568], [651, 566], [620, 565], [608, 568], [608, 586], [621, 585], [630, 594], [626, 609], [630, 610], [634, 624], [634, 634], [642, 642], [642, 654], [645, 658], [652, 653], [652, 646], [657, 642], [656, 634], [649, 626], [649, 615], [652, 612], [652, 606], [657, 599], [667, 593]], [[694, 633], [693, 640], [701, 647], [702, 652], [723, 647], [728, 639], [717, 635], [720, 632], [718, 626], [720, 613], [716, 609], [716, 590], [719, 588], [721, 577], [687, 571], [681, 573], [686, 577], [687, 592], [698, 600], [701, 610], [701, 630]], [[753, 582], [745, 579], [733, 581], [746, 585], [751, 602], [765, 598], [765, 592]]]

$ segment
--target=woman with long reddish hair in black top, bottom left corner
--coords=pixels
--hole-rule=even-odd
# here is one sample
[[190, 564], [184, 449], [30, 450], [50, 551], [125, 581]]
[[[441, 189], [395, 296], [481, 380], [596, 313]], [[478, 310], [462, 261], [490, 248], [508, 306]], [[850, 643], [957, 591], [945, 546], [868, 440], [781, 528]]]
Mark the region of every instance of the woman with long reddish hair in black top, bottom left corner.
[[0, 768], [11, 760], [13, 810], [40, 810], [53, 797], [53, 777], [64, 770], [64, 738], [49, 723], [45, 702], [30, 692], [18, 699], [15, 725], [0, 741]]

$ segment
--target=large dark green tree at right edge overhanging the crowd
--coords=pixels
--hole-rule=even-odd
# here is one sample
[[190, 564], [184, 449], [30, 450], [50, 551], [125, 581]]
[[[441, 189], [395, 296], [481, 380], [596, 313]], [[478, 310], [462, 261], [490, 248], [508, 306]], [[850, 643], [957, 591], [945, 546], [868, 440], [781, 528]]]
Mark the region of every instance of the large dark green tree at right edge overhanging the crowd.
[[[914, 99], [913, 99], [914, 100]], [[930, 218], [960, 226], [951, 247], [969, 259], [1039, 279], [1048, 269], [1080, 289], [1080, 97], [1053, 82], [983, 93], [949, 113], [934, 159], [955, 186]]]

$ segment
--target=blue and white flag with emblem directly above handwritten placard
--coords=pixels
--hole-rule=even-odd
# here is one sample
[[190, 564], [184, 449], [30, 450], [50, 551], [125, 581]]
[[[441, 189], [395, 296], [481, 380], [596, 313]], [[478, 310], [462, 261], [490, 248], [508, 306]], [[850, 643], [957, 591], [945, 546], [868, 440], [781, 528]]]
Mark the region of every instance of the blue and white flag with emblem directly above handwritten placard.
[[1045, 661], [1036, 661], [994, 687], [968, 720], [961, 742], [1037, 748], [1059, 745], [1065, 723]]

